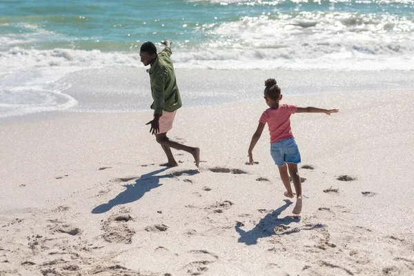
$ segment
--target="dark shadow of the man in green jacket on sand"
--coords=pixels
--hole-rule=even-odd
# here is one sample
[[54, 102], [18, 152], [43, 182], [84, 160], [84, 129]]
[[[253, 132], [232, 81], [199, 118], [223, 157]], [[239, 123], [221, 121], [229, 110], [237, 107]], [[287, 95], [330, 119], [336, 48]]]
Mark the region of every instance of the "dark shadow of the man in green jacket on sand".
[[110, 199], [108, 203], [101, 204], [93, 208], [92, 214], [105, 213], [108, 212], [108, 210], [112, 209], [114, 206], [127, 204], [140, 199], [145, 195], [145, 193], [162, 185], [159, 183], [159, 179], [172, 177], [172, 175], [157, 176], [157, 174], [164, 172], [164, 170], [167, 169], [168, 168], [161, 168], [161, 170], [149, 172], [145, 175], [141, 175], [139, 179], [135, 180], [135, 184], [124, 185], [124, 187], [126, 187], [126, 190], [124, 190], [124, 192], [117, 195], [117, 197], [114, 199]]

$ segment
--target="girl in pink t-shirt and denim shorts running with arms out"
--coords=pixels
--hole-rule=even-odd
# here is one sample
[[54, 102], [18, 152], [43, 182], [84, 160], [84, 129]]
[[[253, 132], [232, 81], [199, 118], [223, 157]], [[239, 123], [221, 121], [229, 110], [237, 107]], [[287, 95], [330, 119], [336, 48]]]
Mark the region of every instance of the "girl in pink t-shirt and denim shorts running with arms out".
[[[297, 172], [297, 164], [300, 163], [300, 153], [297, 148], [295, 138], [290, 128], [290, 115], [294, 113], [311, 112], [311, 113], [331, 113], [339, 112], [337, 109], [326, 110], [322, 108], [298, 108], [295, 105], [282, 104], [282, 94], [280, 88], [277, 86], [275, 79], [267, 79], [264, 82], [266, 88], [264, 89], [264, 99], [269, 108], [265, 110], [262, 117], [259, 119], [259, 126], [250, 141], [248, 148], [248, 157], [250, 165], [253, 165], [253, 148], [262, 135], [264, 125], [268, 124], [270, 132], [270, 155], [272, 155], [275, 164], [279, 168], [280, 177], [286, 188], [284, 195], [293, 198], [293, 191], [290, 187], [289, 174], [293, 179], [293, 185], [296, 191], [296, 205], [293, 208], [293, 213], [299, 215], [302, 211], [302, 186], [300, 183], [299, 173]], [[289, 172], [288, 172], [289, 171]]]

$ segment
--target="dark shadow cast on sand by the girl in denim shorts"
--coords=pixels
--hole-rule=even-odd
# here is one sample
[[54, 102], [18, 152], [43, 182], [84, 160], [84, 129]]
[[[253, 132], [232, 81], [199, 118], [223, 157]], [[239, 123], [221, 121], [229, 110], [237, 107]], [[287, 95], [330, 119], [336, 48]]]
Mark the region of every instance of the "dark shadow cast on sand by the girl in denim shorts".
[[250, 231], [245, 231], [240, 229], [240, 226], [243, 226], [242, 222], [237, 221], [235, 229], [239, 233], [240, 237], [237, 242], [242, 242], [251, 246], [257, 244], [257, 239], [262, 237], [270, 237], [275, 235], [275, 227], [279, 225], [289, 225], [293, 222], [299, 222], [300, 217], [286, 216], [282, 219], [279, 219], [279, 215], [288, 208], [293, 202], [288, 199], [284, 199], [285, 204], [274, 210], [272, 213], [267, 214], [263, 219], [260, 219], [259, 223]]

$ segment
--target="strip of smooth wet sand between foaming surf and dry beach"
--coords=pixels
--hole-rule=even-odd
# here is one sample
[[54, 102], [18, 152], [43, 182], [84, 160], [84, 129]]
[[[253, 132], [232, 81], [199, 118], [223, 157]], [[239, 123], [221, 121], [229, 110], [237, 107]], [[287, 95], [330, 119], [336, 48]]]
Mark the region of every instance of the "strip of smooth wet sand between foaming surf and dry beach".
[[[177, 69], [177, 81], [185, 107], [209, 106], [262, 97], [263, 83], [275, 77], [282, 94], [311, 95], [319, 92], [362, 92], [414, 90], [411, 71], [351, 71], [326, 70], [193, 70]], [[68, 73], [48, 86], [66, 88], [61, 93], [68, 101], [76, 101], [72, 108], [63, 112], [137, 112], [148, 110], [152, 99], [145, 68], [102, 67]], [[27, 88], [25, 88], [27, 89]], [[46, 89], [45, 93], [48, 95]], [[32, 92], [36, 99], [36, 92]], [[26, 94], [19, 99], [25, 103]], [[17, 95], [18, 96], [18, 95]], [[53, 108], [51, 99], [39, 95], [39, 103], [32, 108]], [[49, 97], [48, 96], [48, 97]], [[30, 101], [27, 99], [30, 110]], [[30, 100], [30, 101], [29, 101]], [[19, 104], [21, 104], [19, 103]], [[16, 108], [19, 108], [17, 104]], [[59, 103], [65, 106], [63, 102]], [[17, 109], [18, 112], [18, 109]], [[21, 112], [25, 112], [21, 110]], [[30, 116], [30, 115], [29, 115]], [[1, 120], [1, 118], [0, 118]]]

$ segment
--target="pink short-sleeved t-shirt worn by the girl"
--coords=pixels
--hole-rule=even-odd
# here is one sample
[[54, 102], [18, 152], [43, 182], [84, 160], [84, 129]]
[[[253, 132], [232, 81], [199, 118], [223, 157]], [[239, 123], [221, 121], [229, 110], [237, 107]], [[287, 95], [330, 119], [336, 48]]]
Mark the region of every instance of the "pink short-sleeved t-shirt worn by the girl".
[[290, 115], [297, 111], [297, 106], [293, 104], [281, 104], [279, 108], [266, 109], [259, 122], [268, 124], [270, 132], [270, 144], [277, 141], [292, 137], [292, 128], [290, 128]]

